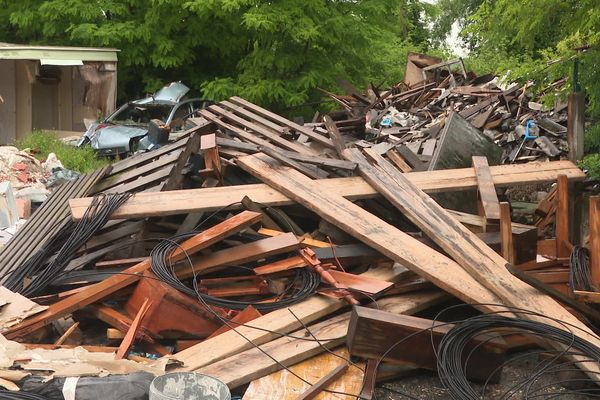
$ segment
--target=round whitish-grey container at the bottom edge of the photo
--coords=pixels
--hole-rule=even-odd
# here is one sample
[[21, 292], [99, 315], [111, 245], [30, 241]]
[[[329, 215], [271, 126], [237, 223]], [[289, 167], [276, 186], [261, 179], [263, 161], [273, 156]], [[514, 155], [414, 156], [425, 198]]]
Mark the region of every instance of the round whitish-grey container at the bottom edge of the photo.
[[149, 400], [231, 400], [231, 392], [212, 376], [175, 372], [154, 378]]

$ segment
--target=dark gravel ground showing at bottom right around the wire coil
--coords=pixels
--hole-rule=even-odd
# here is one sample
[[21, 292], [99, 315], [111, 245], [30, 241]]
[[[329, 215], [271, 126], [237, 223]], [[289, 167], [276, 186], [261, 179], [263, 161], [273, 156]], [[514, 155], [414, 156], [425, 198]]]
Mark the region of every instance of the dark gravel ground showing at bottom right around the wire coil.
[[[502, 371], [500, 383], [489, 385], [486, 389], [486, 394], [485, 397], [483, 397], [483, 399], [502, 399], [503, 395], [511, 387], [513, 387], [513, 385], [520, 382], [525, 377], [531, 375], [534, 372], [534, 369], [538, 362], [539, 358], [537, 356], [532, 355], [505, 366]], [[566, 377], [565, 373], [546, 374], [539, 379], [532, 391], [529, 392], [528, 397], [525, 397], [524, 391], [521, 390], [512, 397], [504, 398], [511, 400], [525, 398], [533, 400], [581, 400], [595, 398], [581, 394], [574, 394], [572, 392], [569, 393], [569, 390], [557, 383], [565, 379], [577, 379], [581, 377], [582, 376], [580, 375]], [[483, 385], [474, 384], [473, 386], [477, 389], [478, 392], [481, 393]], [[534, 393], [535, 388], [540, 388], [542, 386], [546, 387]], [[396, 391], [401, 391], [409, 394], [412, 397], [401, 395], [399, 393], [393, 393], [391, 391], [383, 389], [382, 387], [388, 387]], [[405, 377], [397, 381], [384, 383], [382, 385], [379, 385], [375, 392], [375, 399], [377, 400], [400, 400], [410, 398], [417, 398], [423, 400], [451, 399], [448, 392], [442, 386], [437, 375], [433, 372], [428, 371], [419, 371], [419, 373], [415, 376]]]

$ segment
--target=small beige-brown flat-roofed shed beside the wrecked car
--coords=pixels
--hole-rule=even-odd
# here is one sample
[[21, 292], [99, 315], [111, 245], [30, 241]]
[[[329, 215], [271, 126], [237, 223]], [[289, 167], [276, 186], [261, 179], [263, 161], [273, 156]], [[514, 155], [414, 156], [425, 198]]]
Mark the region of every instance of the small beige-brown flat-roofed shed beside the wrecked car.
[[81, 134], [114, 111], [117, 52], [0, 43], [0, 145], [36, 129]]

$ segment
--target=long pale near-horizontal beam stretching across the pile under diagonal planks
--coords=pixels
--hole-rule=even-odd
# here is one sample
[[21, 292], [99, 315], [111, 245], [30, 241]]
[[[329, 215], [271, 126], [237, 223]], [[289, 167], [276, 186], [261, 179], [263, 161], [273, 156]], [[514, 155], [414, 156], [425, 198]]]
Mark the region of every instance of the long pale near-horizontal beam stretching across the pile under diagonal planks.
[[[533, 162], [527, 164], [490, 167], [495, 186], [552, 182], [564, 174], [569, 180], [580, 181], [585, 174], [570, 161]], [[477, 188], [474, 168], [442, 171], [411, 172], [407, 179], [427, 193], [460, 191]], [[319, 180], [319, 188], [350, 200], [377, 197], [379, 194], [361, 177], [331, 178]], [[252, 201], [282, 206], [293, 201], [283, 193], [265, 184], [226, 186], [216, 188], [164, 191], [160, 193], [137, 193], [116, 210], [112, 219], [146, 218], [159, 215], [187, 214], [214, 211], [229, 206], [241, 209], [239, 203], [248, 196]], [[90, 206], [92, 199], [69, 200], [73, 219], [79, 220]], [[232, 204], [236, 203], [237, 204]]]

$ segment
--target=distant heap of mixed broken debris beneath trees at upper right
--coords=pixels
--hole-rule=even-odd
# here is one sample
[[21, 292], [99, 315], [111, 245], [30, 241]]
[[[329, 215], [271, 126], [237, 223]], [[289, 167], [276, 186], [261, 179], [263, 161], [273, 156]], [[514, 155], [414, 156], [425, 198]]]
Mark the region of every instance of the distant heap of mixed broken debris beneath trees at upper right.
[[566, 102], [548, 109], [530, 100], [530, 84], [503, 87], [493, 75], [467, 72], [461, 59], [410, 53], [404, 81], [389, 90], [371, 85], [361, 93], [344, 80], [339, 85], [347, 95], [327, 94], [342, 107], [341, 125], [354, 125], [357, 135], [403, 155], [406, 146], [421, 161], [418, 170], [447, 168], [448, 151], [467, 162], [470, 146], [485, 145], [482, 137], [502, 148], [487, 151], [490, 163], [557, 160], [569, 150]]

